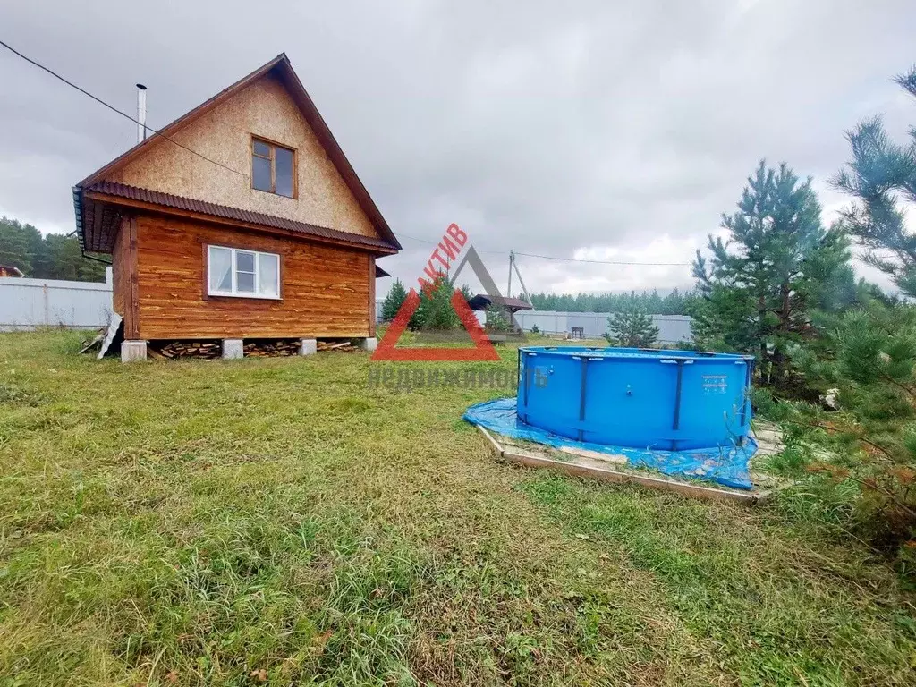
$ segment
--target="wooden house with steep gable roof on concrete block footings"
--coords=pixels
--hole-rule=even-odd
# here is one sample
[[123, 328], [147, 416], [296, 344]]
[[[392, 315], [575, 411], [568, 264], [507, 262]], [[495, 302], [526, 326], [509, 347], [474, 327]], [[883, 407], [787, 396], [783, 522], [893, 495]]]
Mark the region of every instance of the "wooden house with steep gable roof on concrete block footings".
[[375, 345], [376, 257], [398, 239], [285, 54], [73, 189], [82, 248], [112, 254], [122, 359], [148, 340]]

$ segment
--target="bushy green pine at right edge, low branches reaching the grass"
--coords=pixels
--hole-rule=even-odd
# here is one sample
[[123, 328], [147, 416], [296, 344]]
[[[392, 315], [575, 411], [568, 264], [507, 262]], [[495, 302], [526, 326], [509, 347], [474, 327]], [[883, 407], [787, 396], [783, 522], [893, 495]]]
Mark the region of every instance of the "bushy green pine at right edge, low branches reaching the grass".
[[[867, 539], [891, 549], [916, 541], [916, 308], [870, 300], [837, 319], [823, 349], [830, 354], [800, 356], [800, 364], [839, 404], [829, 423], [816, 410], [813, 417], [829, 429], [820, 441], [834, 442], [839, 458], [808, 470], [831, 485], [855, 483], [852, 520]], [[916, 548], [898, 553], [912, 570]]]

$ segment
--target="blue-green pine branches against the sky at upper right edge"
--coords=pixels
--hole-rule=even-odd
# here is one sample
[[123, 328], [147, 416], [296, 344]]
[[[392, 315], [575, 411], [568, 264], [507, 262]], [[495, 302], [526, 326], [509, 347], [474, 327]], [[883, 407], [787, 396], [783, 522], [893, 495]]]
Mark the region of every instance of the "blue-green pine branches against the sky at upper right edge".
[[[916, 97], [916, 67], [895, 81]], [[900, 146], [875, 116], [846, 132], [846, 139], [852, 160], [833, 180], [836, 188], [856, 199], [843, 213], [845, 227], [867, 248], [865, 260], [916, 298], [916, 235], [907, 231], [900, 204], [916, 202], [916, 126], [910, 129], [910, 140]]]

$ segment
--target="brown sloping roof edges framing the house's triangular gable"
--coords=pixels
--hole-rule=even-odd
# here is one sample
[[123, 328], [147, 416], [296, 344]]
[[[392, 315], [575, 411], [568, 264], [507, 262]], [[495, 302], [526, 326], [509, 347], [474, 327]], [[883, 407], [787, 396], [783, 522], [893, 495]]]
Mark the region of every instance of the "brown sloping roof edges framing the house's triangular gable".
[[[239, 81], [234, 82], [228, 88], [224, 88], [219, 93], [216, 93], [216, 95], [214, 95], [212, 98], [191, 110], [191, 112], [183, 114], [171, 124], [159, 129], [157, 133], [154, 133], [146, 140], [136, 144], [136, 146], [130, 148], [123, 155], [114, 158], [101, 169], [96, 169], [92, 174], [90, 174], [88, 177], [76, 185], [73, 190], [74, 196], [76, 196], [77, 193], [82, 195], [82, 190], [88, 190], [90, 187], [93, 187], [97, 183], [103, 181], [106, 177], [114, 174], [114, 172], [123, 169], [127, 164], [136, 158], [142, 156], [149, 149], [149, 147], [156, 145], [159, 142], [158, 138], [168, 138], [169, 136], [176, 134], [180, 131], [180, 129], [190, 125], [203, 114], [206, 114], [213, 110], [214, 107], [223, 104], [228, 99], [232, 98], [236, 93], [239, 93], [245, 89], [246, 86], [256, 82], [258, 79], [264, 76], [267, 76], [267, 74], [276, 76], [286, 88], [289, 95], [292, 97], [293, 102], [299, 107], [303, 118], [308, 123], [308, 125], [311, 126], [311, 130], [315, 133], [319, 143], [327, 153], [328, 158], [331, 159], [334, 167], [344, 179], [344, 183], [347, 185], [347, 188], [350, 190], [350, 192], [353, 193], [356, 202], [359, 204], [360, 208], [363, 210], [366, 216], [368, 216], [373, 226], [376, 227], [376, 230], [383, 239], [383, 243], [391, 248], [394, 248], [395, 250], [399, 250], [401, 245], [398, 243], [397, 237], [395, 237], [394, 232], [391, 231], [391, 228], [388, 226], [385, 218], [382, 216], [382, 213], [378, 210], [376, 203], [369, 195], [369, 191], [365, 190], [363, 182], [359, 180], [359, 177], [356, 176], [356, 172], [353, 169], [353, 166], [344, 155], [344, 150], [340, 147], [340, 144], [337, 143], [337, 140], [331, 133], [331, 129], [328, 128], [328, 125], [324, 122], [322, 115], [318, 112], [318, 108], [315, 107], [315, 104], [312, 102], [311, 96], [305, 90], [302, 82], [300, 82], [299, 76], [295, 71], [293, 71], [292, 65], [289, 62], [289, 58], [285, 52], [281, 52], [276, 58], [268, 61], [267, 64], [256, 69], [255, 71], [252, 71], [250, 74], [243, 77]], [[77, 228], [82, 228], [82, 217], [80, 216], [79, 203], [77, 203]], [[82, 231], [80, 234], [82, 240]]]

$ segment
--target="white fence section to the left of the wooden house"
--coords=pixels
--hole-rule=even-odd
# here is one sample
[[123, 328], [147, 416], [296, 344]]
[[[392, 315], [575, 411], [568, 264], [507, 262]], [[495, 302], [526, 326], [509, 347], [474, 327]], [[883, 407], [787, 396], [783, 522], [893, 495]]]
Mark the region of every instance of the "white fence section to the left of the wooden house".
[[112, 312], [112, 271], [105, 281], [0, 277], [0, 332], [38, 327], [99, 329]]

